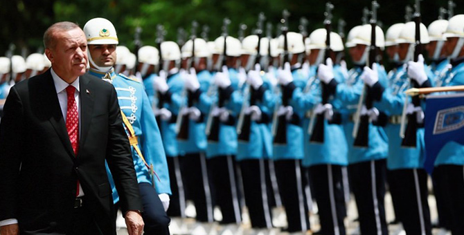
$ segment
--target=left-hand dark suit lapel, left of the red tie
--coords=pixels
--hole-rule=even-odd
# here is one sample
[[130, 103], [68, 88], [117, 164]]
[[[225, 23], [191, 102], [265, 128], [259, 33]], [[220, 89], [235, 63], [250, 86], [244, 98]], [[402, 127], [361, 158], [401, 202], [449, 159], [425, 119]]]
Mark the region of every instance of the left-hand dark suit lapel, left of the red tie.
[[39, 91], [43, 91], [44, 105], [42, 105], [42, 107], [44, 109], [48, 109], [48, 111], [45, 112], [50, 115], [50, 119], [48, 120], [58, 136], [60, 136], [60, 140], [62, 141], [66, 151], [69, 153], [69, 156], [74, 160], [73, 147], [71, 147], [71, 141], [69, 141], [68, 131], [66, 130], [66, 124], [64, 123], [60, 102], [58, 101], [55, 84], [53, 83], [53, 77], [51, 76], [50, 70], [46, 71], [45, 79], [45, 86], [42, 89], [39, 89]]

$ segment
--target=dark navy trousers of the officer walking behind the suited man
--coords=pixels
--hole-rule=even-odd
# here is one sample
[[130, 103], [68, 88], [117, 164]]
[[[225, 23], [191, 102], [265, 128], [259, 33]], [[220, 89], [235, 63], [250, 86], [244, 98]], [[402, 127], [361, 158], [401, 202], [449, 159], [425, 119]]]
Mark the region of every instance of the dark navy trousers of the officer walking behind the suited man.
[[169, 235], [171, 219], [164, 212], [163, 203], [159, 199], [157, 190], [150, 184], [139, 184], [140, 196], [143, 205], [143, 232], [146, 235]]

